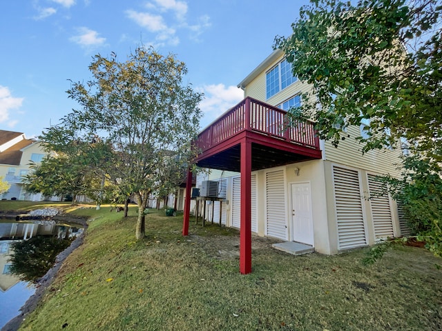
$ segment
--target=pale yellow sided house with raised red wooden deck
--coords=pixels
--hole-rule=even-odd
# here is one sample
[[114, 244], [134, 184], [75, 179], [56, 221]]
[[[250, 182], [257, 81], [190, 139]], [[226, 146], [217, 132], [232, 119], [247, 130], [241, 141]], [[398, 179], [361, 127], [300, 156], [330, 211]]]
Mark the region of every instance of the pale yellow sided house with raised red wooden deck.
[[210, 201], [206, 217], [213, 214], [240, 229], [240, 272], [251, 272], [251, 232], [303, 243], [322, 254], [407, 232], [395, 201], [368, 199], [380, 187], [376, 175], [399, 175], [394, 163], [400, 149], [363, 155], [354, 139], [358, 127], [347, 129], [349, 138], [338, 148], [320, 141], [312, 123], [287, 128], [286, 110], [301, 103], [300, 94], [311, 86], [293, 77], [280, 50], [238, 87], [245, 99], [200, 132], [195, 145], [197, 164], [211, 169], [204, 179], [218, 181], [224, 198], [224, 203]]

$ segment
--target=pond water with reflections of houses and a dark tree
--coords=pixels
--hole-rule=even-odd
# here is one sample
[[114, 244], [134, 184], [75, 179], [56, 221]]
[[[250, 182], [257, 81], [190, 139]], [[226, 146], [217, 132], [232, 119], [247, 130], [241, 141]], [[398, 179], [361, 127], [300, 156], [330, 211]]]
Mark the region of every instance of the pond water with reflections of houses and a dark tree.
[[[20, 277], [11, 273], [12, 247], [22, 243], [35, 243], [47, 250], [53, 250], [52, 244], [41, 245], [40, 243], [53, 243], [55, 239], [70, 242], [77, 237], [83, 229], [80, 225], [68, 223], [56, 223], [55, 221], [10, 221], [0, 219], [0, 328], [10, 319], [19, 314], [19, 309], [34, 294], [35, 286], [32, 282], [22, 281]], [[60, 248], [62, 250], [63, 248]], [[41, 254], [46, 254], [41, 252]], [[46, 257], [49, 253], [46, 254]], [[57, 253], [56, 253], [57, 254]], [[25, 256], [25, 255], [23, 255]], [[45, 257], [45, 259], [46, 259]], [[35, 264], [30, 261], [22, 263], [28, 265], [35, 274]], [[46, 271], [41, 271], [38, 277], [44, 276]], [[23, 278], [23, 276], [22, 276]]]

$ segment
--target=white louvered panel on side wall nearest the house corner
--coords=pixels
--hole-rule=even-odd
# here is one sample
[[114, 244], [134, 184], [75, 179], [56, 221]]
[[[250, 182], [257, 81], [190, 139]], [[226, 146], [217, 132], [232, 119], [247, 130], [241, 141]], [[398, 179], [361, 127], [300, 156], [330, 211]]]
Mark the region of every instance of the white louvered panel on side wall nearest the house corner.
[[367, 245], [358, 171], [334, 166], [333, 176], [338, 248]]

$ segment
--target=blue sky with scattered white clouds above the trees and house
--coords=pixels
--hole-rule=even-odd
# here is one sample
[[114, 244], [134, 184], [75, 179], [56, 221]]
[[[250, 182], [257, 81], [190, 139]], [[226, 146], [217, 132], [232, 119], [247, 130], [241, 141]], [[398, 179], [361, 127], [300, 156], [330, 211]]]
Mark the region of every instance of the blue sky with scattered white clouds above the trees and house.
[[3, 0], [0, 130], [37, 137], [79, 109], [70, 81], [86, 82], [95, 54], [125, 61], [153, 46], [186, 63], [204, 93], [204, 128], [244, 97], [238, 83], [288, 36], [307, 0]]

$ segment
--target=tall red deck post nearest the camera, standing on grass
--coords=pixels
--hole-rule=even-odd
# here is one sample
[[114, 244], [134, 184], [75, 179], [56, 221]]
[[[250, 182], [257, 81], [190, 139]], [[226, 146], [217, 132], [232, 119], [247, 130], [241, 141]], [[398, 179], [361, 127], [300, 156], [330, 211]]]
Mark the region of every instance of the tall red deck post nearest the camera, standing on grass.
[[251, 143], [241, 141], [240, 272], [251, 272]]

